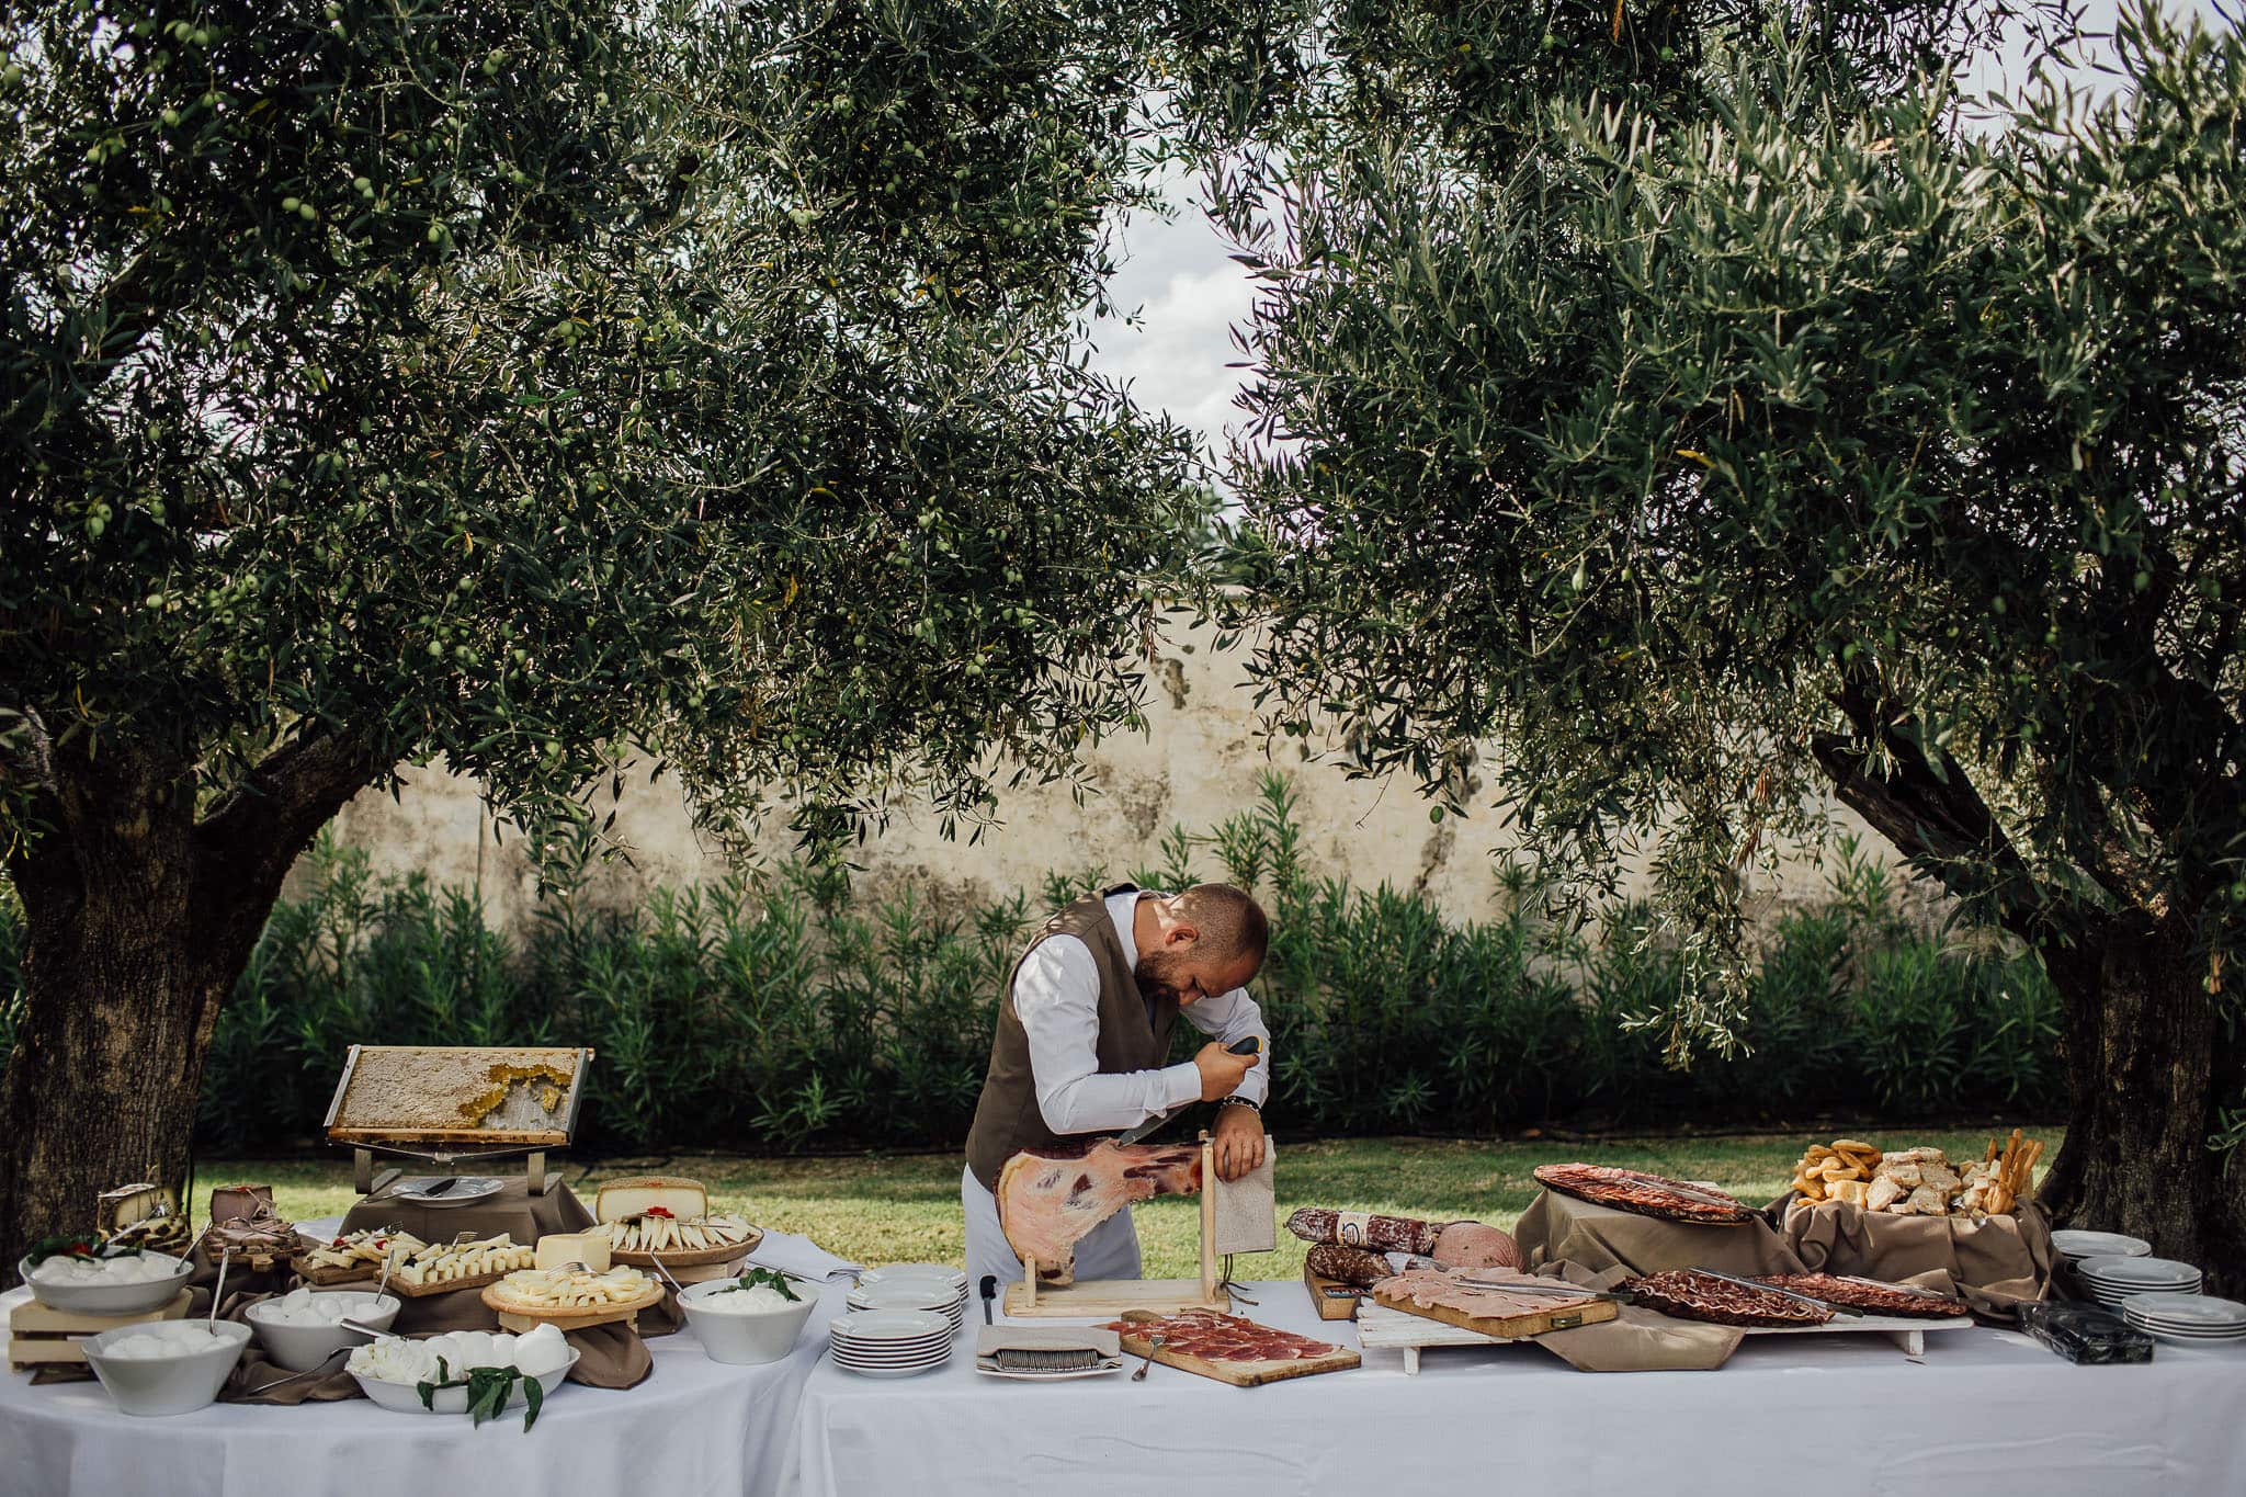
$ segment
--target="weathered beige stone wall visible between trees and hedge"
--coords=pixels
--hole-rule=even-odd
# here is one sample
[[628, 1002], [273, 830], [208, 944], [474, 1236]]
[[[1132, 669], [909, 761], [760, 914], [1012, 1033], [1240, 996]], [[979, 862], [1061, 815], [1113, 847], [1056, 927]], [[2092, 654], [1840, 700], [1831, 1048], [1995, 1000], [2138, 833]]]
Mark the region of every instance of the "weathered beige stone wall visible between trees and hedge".
[[[1496, 817], [1482, 810], [1464, 821], [1428, 821], [1426, 801], [1408, 781], [1352, 781], [1330, 763], [1309, 761], [1307, 745], [1258, 729], [1240, 655], [1213, 653], [1206, 633], [1175, 640], [1161, 660], [1148, 734], [1107, 741], [1089, 756], [1096, 795], [1076, 803], [1065, 788], [1035, 788], [1002, 797], [999, 826], [977, 844], [946, 842], [934, 817], [901, 808], [887, 833], [858, 848], [865, 882], [878, 891], [912, 880], [941, 900], [970, 900], [1013, 889], [1035, 891], [1047, 871], [1098, 869], [1121, 878], [1161, 862], [1161, 835], [1184, 824], [1202, 833], [1251, 806], [1256, 777], [1276, 765], [1294, 772], [1298, 821], [1312, 869], [1348, 875], [1361, 887], [1397, 884], [1431, 896], [1453, 918], [1476, 918], [1496, 896], [1494, 853], [1503, 851]], [[380, 873], [422, 871], [436, 882], [478, 884], [494, 925], [512, 929], [535, 902], [535, 875], [519, 844], [494, 842], [490, 815], [474, 783], [438, 768], [407, 774], [409, 786], [362, 795], [337, 819], [341, 839], [366, 848]], [[1482, 797], [1487, 799], [1487, 795]], [[1862, 830], [1853, 817], [1844, 826]], [[714, 880], [725, 862], [696, 835], [676, 788], [627, 783], [615, 835], [631, 848], [629, 864], [593, 875], [591, 893], [629, 902], [656, 882]], [[1880, 846], [1866, 835], [1866, 846]], [[786, 855], [775, 828], [768, 855]], [[1217, 875], [1215, 855], [1197, 864]], [[1759, 887], [1759, 904], [1815, 898], [1824, 871], [1808, 853], [1788, 857], [1783, 873]]]

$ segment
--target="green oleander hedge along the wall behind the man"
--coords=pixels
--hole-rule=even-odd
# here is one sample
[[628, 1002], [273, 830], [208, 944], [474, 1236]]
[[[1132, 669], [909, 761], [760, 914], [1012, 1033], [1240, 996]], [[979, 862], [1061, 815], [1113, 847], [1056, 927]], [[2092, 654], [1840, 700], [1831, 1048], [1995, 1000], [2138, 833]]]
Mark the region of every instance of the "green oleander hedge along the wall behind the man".
[[[1853, 855], [1828, 900], [1770, 927], [1745, 1048], [1671, 1071], [1646, 1019], [1682, 967], [1642, 936], [1642, 909], [1563, 931], [1505, 869], [1494, 913], [1453, 922], [1417, 893], [1307, 873], [1287, 781], [1262, 792], [1206, 835], [1175, 830], [1159, 866], [1127, 878], [1231, 878], [1271, 909], [1258, 997], [1282, 1136], [2062, 1102], [2057, 1005], [2035, 963], [1947, 938]], [[1105, 878], [1053, 873], [1038, 896], [941, 911], [912, 887], [869, 898], [838, 869], [788, 864], [656, 889], [638, 909], [555, 898], [517, 943], [472, 891], [377, 880], [364, 853], [321, 844], [218, 1023], [198, 1145], [312, 1138], [355, 1041], [591, 1044], [593, 1147], [957, 1142], [1020, 943]], [[20, 918], [0, 900], [0, 1026], [18, 952]], [[1184, 1057], [1199, 1039], [1179, 1028]]]

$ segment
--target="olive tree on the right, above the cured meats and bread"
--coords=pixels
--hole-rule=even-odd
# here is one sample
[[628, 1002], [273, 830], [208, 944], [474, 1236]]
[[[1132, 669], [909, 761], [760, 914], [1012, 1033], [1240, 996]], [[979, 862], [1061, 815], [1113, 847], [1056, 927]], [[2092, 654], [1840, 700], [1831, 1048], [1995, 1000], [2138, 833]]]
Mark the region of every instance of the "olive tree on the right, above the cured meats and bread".
[[1494, 741], [1556, 869], [1651, 866], [1680, 1053], [1837, 797], [2048, 965], [2055, 1212], [2239, 1264], [2246, 43], [1961, 99], [2003, 9], [1305, 7], [1204, 79], [1226, 608], [1280, 725], [1435, 815]]

